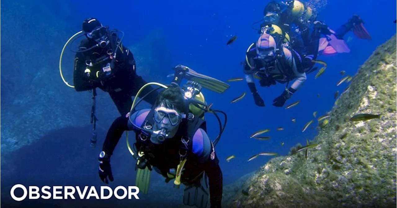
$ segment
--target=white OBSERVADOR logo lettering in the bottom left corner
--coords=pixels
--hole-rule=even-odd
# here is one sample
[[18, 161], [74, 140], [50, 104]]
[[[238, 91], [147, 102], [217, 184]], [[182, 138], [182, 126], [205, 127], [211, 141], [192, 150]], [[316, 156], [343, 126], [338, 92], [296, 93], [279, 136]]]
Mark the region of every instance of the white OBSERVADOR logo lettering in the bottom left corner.
[[[23, 195], [20, 197], [15, 196], [15, 190], [16, 189], [22, 189]], [[40, 191], [41, 190], [41, 194]], [[121, 190], [121, 191], [119, 191]], [[114, 190], [108, 186], [101, 186], [100, 187], [100, 194], [98, 195], [98, 191], [96, 191], [96, 188], [94, 186], [88, 187], [85, 186], [83, 189], [80, 187], [76, 186], [43, 186], [41, 189], [37, 186], [29, 186], [29, 191], [26, 189], [26, 187], [22, 184], [16, 184], [11, 188], [10, 194], [13, 200], [15, 201], [22, 201], [25, 200], [27, 195], [29, 194], [28, 199], [76, 199], [76, 192], [78, 197], [83, 200], [83, 199], [90, 199], [96, 198], [96, 199], [101, 199], [101, 200], [106, 200], [110, 199], [113, 195], [117, 199], [121, 200], [124, 199], [128, 195], [128, 199], [131, 199], [132, 196], [135, 197], [135, 199], [139, 199], [138, 193], [139, 193], [139, 188], [136, 186], [129, 186], [127, 188], [123, 186], [118, 186]], [[122, 195], [119, 195], [118, 192], [123, 192]], [[105, 196], [105, 194], [107, 194]]]

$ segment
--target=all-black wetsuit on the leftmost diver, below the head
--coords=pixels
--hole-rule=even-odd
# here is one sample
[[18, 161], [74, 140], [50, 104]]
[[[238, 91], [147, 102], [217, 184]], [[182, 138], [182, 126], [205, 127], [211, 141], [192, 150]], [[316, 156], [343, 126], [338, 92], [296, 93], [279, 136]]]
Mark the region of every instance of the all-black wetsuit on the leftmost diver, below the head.
[[[119, 40], [118, 40], [119, 41]], [[116, 42], [116, 41], [114, 41]], [[79, 46], [79, 50], [84, 50], [96, 45], [92, 40], [84, 40]], [[113, 45], [116, 45], [113, 44]], [[113, 46], [115, 47], [115, 46]], [[146, 84], [141, 76], [136, 74], [136, 65], [133, 53], [120, 44], [117, 49], [116, 61], [111, 73], [107, 75], [102, 68], [110, 64], [110, 55], [107, 51], [112, 48], [112, 44], [107, 47], [96, 47], [86, 52], [77, 52], [75, 56], [75, 67], [73, 72], [73, 82], [76, 91], [87, 91], [99, 87], [109, 93], [120, 115], [126, 115], [132, 105], [131, 96], [135, 96], [137, 91]], [[91, 61], [93, 66], [88, 66]], [[87, 68], [90, 72], [87, 73]], [[148, 86], [141, 95], [145, 95], [153, 88]], [[153, 92], [145, 101], [154, 104], [158, 93]]]

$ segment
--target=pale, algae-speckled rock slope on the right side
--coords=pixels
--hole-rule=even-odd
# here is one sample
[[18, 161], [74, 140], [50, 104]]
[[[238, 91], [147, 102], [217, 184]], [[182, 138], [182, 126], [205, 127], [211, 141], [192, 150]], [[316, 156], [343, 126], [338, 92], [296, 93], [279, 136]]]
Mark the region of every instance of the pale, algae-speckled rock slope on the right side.
[[[271, 159], [224, 207], [396, 207], [396, 66], [394, 35], [358, 69], [308, 158], [301, 151]], [[349, 121], [361, 113], [382, 117]]]

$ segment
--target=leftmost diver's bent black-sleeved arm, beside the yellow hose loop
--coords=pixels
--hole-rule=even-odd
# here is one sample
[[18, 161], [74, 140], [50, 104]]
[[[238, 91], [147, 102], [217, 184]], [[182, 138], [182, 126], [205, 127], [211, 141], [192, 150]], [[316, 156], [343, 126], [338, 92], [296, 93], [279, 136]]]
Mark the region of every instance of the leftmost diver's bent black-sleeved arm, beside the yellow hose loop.
[[85, 72], [87, 65], [81, 52], [75, 55], [75, 64], [73, 70], [73, 84], [76, 91], [87, 91], [95, 87], [96, 82], [93, 81], [95, 72]]

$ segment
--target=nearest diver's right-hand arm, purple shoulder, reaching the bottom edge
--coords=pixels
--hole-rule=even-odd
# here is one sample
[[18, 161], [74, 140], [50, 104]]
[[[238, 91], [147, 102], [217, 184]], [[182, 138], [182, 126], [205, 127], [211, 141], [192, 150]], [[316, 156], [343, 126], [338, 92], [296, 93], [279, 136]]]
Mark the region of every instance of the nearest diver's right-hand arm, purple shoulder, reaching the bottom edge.
[[198, 157], [198, 162], [204, 166], [210, 186], [211, 208], [220, 208], [222, 202], [223, 177], [219, 167], [219, 159], [207, 133], [199, 128], [193, 136], [192, 152]]

